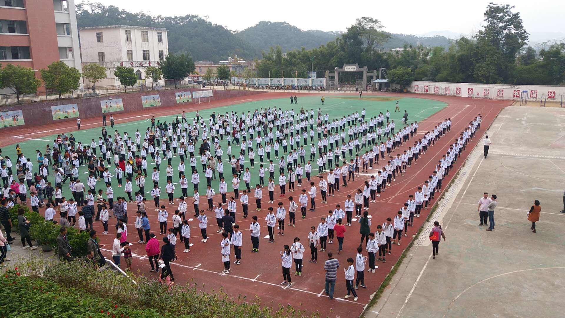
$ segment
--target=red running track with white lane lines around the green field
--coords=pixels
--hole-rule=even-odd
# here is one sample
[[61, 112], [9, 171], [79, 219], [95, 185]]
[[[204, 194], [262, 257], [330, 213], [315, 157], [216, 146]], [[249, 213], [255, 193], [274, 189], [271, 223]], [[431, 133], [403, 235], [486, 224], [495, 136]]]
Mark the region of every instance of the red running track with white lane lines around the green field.
[[[327, 94], [327, 93], [326, 93]], [[305, 96], [310, 96], [311, 94], [304, 94]], [[398, 96], [406, 97], [406, 94], [380, 94], [381, 96]], [[250, 100], [264, 100], [271, 98], [286, 97], [288, 93], [265, 93], [255, 96], [246, 96], [245, 101]], [[374, 231], [376, 225], [382, 224], [387, 217], [394, 217], [396, 212], [403, 203], [406, 201], [409, 194], [413, 194], [418, 187], [428, 175], [432, 173], [437, 161], [441, 158], [442, 154], [445, 154], [449, 145], [453, 143], [459, 133], [467, 126], [467, 124], [475, 117], [477, 114], [483, 115], [483, 123], [481, 124], [481, 130], [477, 133], [477, 136], [470, 141], [469, 147], [466, 151], [462, 152], [462, 158], [466, 158], [473, 147], [481, 140], [481, 136], [484, 134], [486, 127], [489, 127], [493, 122], [494, 118], [498, 115], [499, 111], [505, 106], [510, 105], [509, 101], [492, 101], [492, 100], [474, 100], [470, 98], [458, 98], [458, 97], [447, 97], [447, 96], [419, 96], [419, 95], [408, 95], [409, 97], [418, 98], [429, 98], [438, 101], [444, 101], [449, 106], [442, 109], [438, 113], [432, 115], [431, 117], [420, 121], [419, 132], [424, 133], [431, 130], [437, 122], [445, 118], [451, 118], [451, 131], [447, 133], [441, 140], [437, 141], [433, 147], [428, 149], [427, 154], [421, 156], [418, 160], [418, 164], [412, 165], [408, 168], [405, 173], [405, 177], [397, 178], [396, 182], [392, 183], [392, 186], [386, 187], [386, 192], [381, 194], [379, 201], [377, 203], [370, 204], [369, 213], [372, 216], [372, 230]], [[190, 107], [184, 110], [194, 111], [197, 109], [207, 109], [215, 108], [219, 106], [237, 104], [237, 102], [244, 102], [242, 98], [232, 98], [228, 100], [221, 100], [212, 103], [200, 104], [200, 105], [190, 105]], [[178, 114], [183, 109], [181, 108], [162, 108], [158, 112], [147, 111], [139, 114], [140, 117], [132, 117], [129, 114], [116, 115], [115, 118], [118, 122], [121, 121], [134, 121], [140, 118], [150, 118], [151, 115], [169, 115]], [[101, 123], [98, 119], [87, 119], [83, 121], [83, 126], [86, 127], [97, 127]], [[28, 138], [39, 137], [42, 135], [50, 135], [58, 131], [72, 131], [75, 130], [75, 126], [71, 123], [62, 123], [59, 125], [49, 125], [45, 127], [38, 127], [34, 130], [29, 128], [24, 128], [21, 130], [15, 130], [11, 132], [12, 136], [24, 135]], [[5, 137], [8, 143], [16, 143], [21, 140], [17, 137]], [[410, 140], [410, 144], [412, 140]], [[5, 147], [5, 146], [4, 146]], [[408, 145], [402, 145], [398, 152], [407, 149]], [[451, 170], [450, 175], [445, 178], [443, 184], [448, 184], [457, 170], [463, 164], [463, 160], [458, 160], [454, 165], [454, 169]], [[184, 245], [180, 240], [177, 240], [177, 255], [179, 260], [171, 263], [171, 269], [173, 274], [175, 274], [175, 280], [177, 284], [184, 283], [195, 283], [197, 286], [201, 287], [202, 290], [223, 290], [232, 295], [234, 298], [238, 296], [246, 296], [247, 299], [254, 299], [255, 295], [260, 298], [260, 302], [263, 306], [270, 306], [276, 309], [279, 304], [286, 306], [286, 304], [292, 305], [297, 310], [303, 310], [306, 313], [311, 313], [318, 311], [320, 316], [359, 316], [363, 310], [364, 306], [370, 302], [370, 295], [375, 293], [381, 283], [383, 283], [386, 275], [390, 272], [390, 269], [394, 266], [402, 251], [406, 248], [408, 243], [413, 239], [412, 235], [416, 234], [423, 225], [424, 220], [426, 220], [429, 211], [433, 208], [433, 205], [429, 206], [427, 210], [422, 210], [422, 216], [420, 218], [415, 218], [414, 227], [408, 229], [408, 237], [401, 241], [401, 246], [394, 245], [392, 248], [392, 255], [387, 257], [388, 261], [386, 263], [377, 262], [376, 265], [379, 268], [376, 272], [365, 273], [365, 283], [367, 289], [360, 288], [357, 290], [359, 299], [357, 302], [353, 301], [353, 298], [344, 299], [343, 296], [346, 295], [345, 279], [342, 272], [343, 268], [346, 266], [346, 259], [348, 257], [355, 258], [357, 253], [357, 247], [359, 246], [359, 225], [354, 222], [353, 226], [346, 227], [345, 241], [344, 241], [344, 251], [341, 255], [334, 255], [340, 261], [340, 269], [338, 269], [338, 280], [336, 282], [336, 289], [334, 294], [334, 299], [330, 300], [325, 294], [321, 293], [324, 289], [324, 261], [327, 259], [325, 252], [318, 252], [318, 263], [308, 263], [308, 258], [310, 256], [310, 249], [306, 246], [306, 251], [304, 253], [305, 264], [303, 265], [303, 273], [301, 277], [292, 276], [293, 285], [291, 287], [283, 287], [279, 285], [282, 281], [282, 269], [281, 260], [279, 256], [279, 251], [282, 250], [284, 244], [292, 244], [294, 237], [300, 237], [301, 242], [307, 241], [307, 233], [310, 226], [317, 226], [319, 223], [319, 218], [321, 216], [327, 215], [329, 209], [333, 209], [336, 204], [343, 203], [346, 199], [347, 194], [353, 194], [353, 192], [360, 187], [363, 182], [368, 179], [368, 175], [361, 175], [360, 178], [356, 179], [355, 182], [350, 182], [349, 187], [340, 187], [340, 192], [336, 192], [336, 196], [328, 197], [328, 204], [319, 204], [320, 196], [316, 197], [318, 203], [315, 213], [308, 212], [307, 218], [297, 218], [296, 227], [285, 226], [285, 236], [281, 237], [275, 235], [275, 243], [267, 243], [267, 239], [263, 239], [267, 233], [267, 227], [264, 222], [264, 217], [267, 214], [267, 208], [275, 208], [279, 201], [282, 201], [285, 207], [288, 205], [288, 195], [294, 195], [298, 197], [301, 188], [297, 188], [294, 193], [287, 194], [287, 197], [281, 198], [282, 200], [275, 200], [274, 204], [262, 203], [263, 209], [259, 212], [255, 212], [255, 204], [250, 202], [249, 207], [249, 218], [241, 218], [242, 212], [237, 213], [237, 224], [240, 225], [240, 229], [243, 231], [244, 240], [242, 246], [242, 259], [241, 265], [231, 264], [231, 272], [229, 274], [221, 274], [223, 270], [223, 263], [220, 260], [220, 240], [221, 235], [215, 232], [217, 227], [215, 226], [215, 218], [213, 212], [207, 212], [208, 216], [208, 241], [206, 243], [201, 243], [200, 231], [198, 229], [198, 222], [191, 221], [191, 233], [192, 239], [191, 243], [194, 243], [189, 253], [182, 253]], [[315, 181], [317, 183], [317, 181]], [[278, 191], [275, 190], [275, 199], [279, 199], [277, 196]], [[219, 195], [218, 195], [219, 197]], [[228, 194], [229, 197], [229, 194]], [[216, 202], [216, 198], [215, 201]], [[250, 200], [254, 201], [254, 200]], [[152, 206], [152, 203], [147, 201]], [[433, 201], [433, 204], [436, 202]], [[207, 206], [204, 202], [203, 207]], [[190, 206], [190, 204], [189, 204]], [[174, 210], [176, 207], [171, 205], [169, 210]], [[137, 242], [137, 231], [133, 226], [133, 221], [135, 218], [136, 207], [134, 204], [130, 204], [128, 208], [129, 214], [129, 224], [128, 224], [128, 241]], [[188, 215], [190, 214], [187, 212]], [[170, 213], [170, 212], [169, 212]], [[158, 233], [158, 222], [157, 222], [157, 212], [153, 209], [148, 209], [147, 214], [151, 222], [151, 232]], [[299, 213], [297, 213], [299, 215]], [[249, 224], [251, 222], [251, 216], [257, 215], [261, 227], [261, 239], [259, 245], [259, 253], [251, 253], [251, 240], [249, 238]], [[110, 234], [100, 235], [101, 244], [105, 244], [102, 248], [105, 249], [104, 253], [106, 257], [111, 259], [111, 245], [115, 238], [115, 227], [114, 222], [110, 221]], [[102, 232], [101, 222], [95, 222], [94, 229], [98, 233]], [[162, 236], [158, 235], [158, 239]], [[304, 243], [303, 243], [304, 244]], [[134, 255], [133, 260], [133, 270], [137, 272], [145, 273], [149, 276], [154, 276], [157, 278], [157, 274], [149, 273], [149, 264], [147, 257], [145, 256], [145, 245], [134, 243], [131, 246]], [[337, 239], [334, 244], [328, 244], [327, 251], [333, 251], [334, 254], [337, 251]], [[234, 253], [232, 249], [232, 262], [234, 260]], [[366, 255], [366, 253], [365, 253]], [[294, 273], [294, 264], [290, 270], [291, 274]]]

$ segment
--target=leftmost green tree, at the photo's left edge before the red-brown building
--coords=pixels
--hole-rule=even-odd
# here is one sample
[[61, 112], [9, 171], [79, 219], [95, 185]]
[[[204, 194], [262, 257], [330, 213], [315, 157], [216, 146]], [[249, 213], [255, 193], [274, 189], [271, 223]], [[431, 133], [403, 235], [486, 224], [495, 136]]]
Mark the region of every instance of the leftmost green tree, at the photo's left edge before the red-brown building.
[[20, 102], [20, 94], [35, 93], [41, 85], [41, 81], [36, 79], [35, 73], [30, 67], [8, 64], [3, 68], [0, 75], [0, 88], [10, 88], [14, 91], [18, 103]]

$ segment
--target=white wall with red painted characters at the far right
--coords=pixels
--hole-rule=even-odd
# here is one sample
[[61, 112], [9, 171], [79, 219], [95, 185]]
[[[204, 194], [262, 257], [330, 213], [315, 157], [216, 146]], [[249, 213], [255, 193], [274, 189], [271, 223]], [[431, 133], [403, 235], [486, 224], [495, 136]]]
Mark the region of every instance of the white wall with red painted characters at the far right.
[[410, 87], [408, 87], [408, 91], [419, 94], [491, 98], [501, 100], [520, 100], [520, 96], [522, 96], [522, 94], [525, 94], [525, 96], [528, 97], [528, 100], [541, 100], [542, 98], [547, 98], [547, 100], [560, 101], [562, 98], [565, 99], [565, 86], [549, 85], [503, 85], [413, 81]]

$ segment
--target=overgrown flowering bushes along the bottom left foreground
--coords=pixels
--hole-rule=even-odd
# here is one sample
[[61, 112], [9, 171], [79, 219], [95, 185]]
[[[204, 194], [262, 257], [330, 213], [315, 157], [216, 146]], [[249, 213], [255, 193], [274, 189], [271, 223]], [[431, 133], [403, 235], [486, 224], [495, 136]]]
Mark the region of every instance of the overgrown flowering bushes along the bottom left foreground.
[[7, 271], [0, 277], [0, 286], [6, 286], [0, 291], [0, 308], [6, 308], [6, 317], [317, 317], [290, 306], [262, 307], [266, 304], [257, 296], [234, 299], [221, 289], [205, 293], [194, 284], [168, 287], [141, 274], [108, 274], [80, 260], [28, 259], [18, 268], [21, 276]]

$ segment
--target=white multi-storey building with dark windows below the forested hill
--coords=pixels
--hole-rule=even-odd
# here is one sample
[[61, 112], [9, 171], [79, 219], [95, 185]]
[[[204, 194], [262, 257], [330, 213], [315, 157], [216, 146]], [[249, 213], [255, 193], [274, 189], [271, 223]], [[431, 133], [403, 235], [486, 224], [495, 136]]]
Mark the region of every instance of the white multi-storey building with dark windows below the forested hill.
[[[167, 29], [130, 25], [80, 28], [80, 50], [82, 65], [98, 63], [107, 68], [107, 78], [97, 85], [119, 85], [114, 76], [118, 66], [133, 67], [141, 84], [146, 81], [145, 68], [158, 66], [169, 53]], [[85, 79], [85, 86], [89, 85]]]

